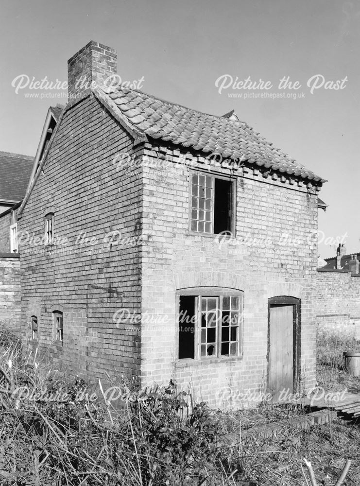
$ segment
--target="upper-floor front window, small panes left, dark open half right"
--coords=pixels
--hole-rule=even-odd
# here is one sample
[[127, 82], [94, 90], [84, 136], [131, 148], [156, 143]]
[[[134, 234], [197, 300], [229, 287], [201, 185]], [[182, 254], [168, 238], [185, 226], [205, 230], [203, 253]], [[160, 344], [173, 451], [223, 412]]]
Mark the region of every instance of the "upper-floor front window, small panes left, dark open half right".
[[232, 231], [234, 181], [194, 173], [191, 175], [191, 231], [219, 234]]

